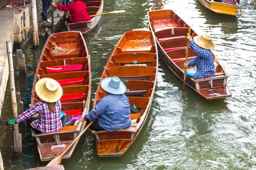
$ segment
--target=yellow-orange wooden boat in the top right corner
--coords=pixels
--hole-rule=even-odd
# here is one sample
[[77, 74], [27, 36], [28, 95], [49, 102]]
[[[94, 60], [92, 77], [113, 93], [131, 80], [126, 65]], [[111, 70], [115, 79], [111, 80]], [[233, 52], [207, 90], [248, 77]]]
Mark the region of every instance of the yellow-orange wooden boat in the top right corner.
[[209, 10], [218, 14], [227, 14], [236, 16], [236, 11], [239, 5], [232, 5], [228, 3], [210, 2], [209, 0], [199, 0], [199, 2]]

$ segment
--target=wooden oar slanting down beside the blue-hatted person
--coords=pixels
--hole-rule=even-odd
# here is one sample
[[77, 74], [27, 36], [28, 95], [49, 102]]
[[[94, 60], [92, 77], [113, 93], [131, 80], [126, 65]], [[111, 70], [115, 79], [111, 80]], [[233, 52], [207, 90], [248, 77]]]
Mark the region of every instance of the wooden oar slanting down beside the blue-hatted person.
[[[84, 109], [85, 113], [87, 111], [87, 108]], [[84, 128], [84, 130], [76, 137], [75, 140], [73, 140], [73, 142], [67, 147], [67, 149], [64, 150], [63, 153], [61, 153], [60, 156], [57, 156], [55, 159], [52, 159], [46, 166], [53, 166], [53, 165], [59, 165], [61, 164], [61, 159], [62, 157], [65, 155], [65, 153], [70, 149], [70, 147], [73, 146], [73, 144], [84, 134], [84, 132], [90, 127], [90, 125], [92, 125], [94, 122], [94, 120], [92, 122], [89, 123], [89, 125], [87, 125], [87, 127]]]

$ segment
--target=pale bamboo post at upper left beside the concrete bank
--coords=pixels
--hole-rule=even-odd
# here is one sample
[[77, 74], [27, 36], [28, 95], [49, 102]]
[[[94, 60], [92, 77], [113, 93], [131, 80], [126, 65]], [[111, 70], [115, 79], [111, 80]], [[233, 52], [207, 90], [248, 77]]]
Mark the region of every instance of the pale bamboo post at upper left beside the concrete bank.
[[32, 8], [32, 31], [33, 31], [33, 46], [34, 48], [39, 48], [39, 35], [38, 35], [38, 22], [37, 22], [37, 12], [35, 0], [31, 0]]

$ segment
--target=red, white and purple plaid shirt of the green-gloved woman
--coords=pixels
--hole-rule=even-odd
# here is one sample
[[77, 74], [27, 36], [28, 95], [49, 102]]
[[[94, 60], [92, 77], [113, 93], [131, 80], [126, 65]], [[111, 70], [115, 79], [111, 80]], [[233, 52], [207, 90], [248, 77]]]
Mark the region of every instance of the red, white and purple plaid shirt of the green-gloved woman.
[[39, 114], [39, 119], [33, 121], [30, 125], [40, 130], [43, 133], [47, 132], [56, 132], [60, 131], [62, 127], [61, 123], [61, 101], [58, 100], [56, 102], [56, 107], [54, 113], [49, 109], [46, 102], [40, 100], [39, 102], [35, 103], [31, 109], [26, 110], [25, 112], [21, 113], [17, 116], [16, 122], [20, 123], [23, 122], [30, 117]]

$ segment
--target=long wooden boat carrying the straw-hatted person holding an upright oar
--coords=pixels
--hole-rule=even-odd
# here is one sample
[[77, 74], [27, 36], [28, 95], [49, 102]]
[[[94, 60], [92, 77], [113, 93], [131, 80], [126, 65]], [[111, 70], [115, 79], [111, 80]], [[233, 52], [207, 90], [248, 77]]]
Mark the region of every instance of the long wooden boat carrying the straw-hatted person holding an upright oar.
[[[186, 34], [189, 26], [172, 10], [148, 11], [149, 27], [157, 39], [157, 47], [170, 70], [183, 81], [184, 62], [186, 57]], [[191, 29], [192, 37], [197, 36]], [[189, 48], [188, 61], [196, 54]], [[206, 99], [218, 99], [230, 97], [231, 93], [227, 87], [227, 73], [224, 71], [218, 59], [212, 54], [217, 64], [215, 76], [204, 79], [193, 79], [186, 77], [186, 85], [201, 94]], [[189, 67], [193, 68], [193, 67]]]

